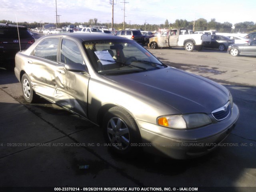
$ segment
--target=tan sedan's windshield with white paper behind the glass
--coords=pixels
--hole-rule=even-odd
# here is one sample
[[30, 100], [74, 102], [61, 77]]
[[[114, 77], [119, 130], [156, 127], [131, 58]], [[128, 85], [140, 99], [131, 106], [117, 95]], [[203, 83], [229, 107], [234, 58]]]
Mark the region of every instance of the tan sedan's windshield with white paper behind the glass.
[[94, 69], [102, 75], [157, 70], [166, 66], [138, 43], [129, 40], [84, 42]]

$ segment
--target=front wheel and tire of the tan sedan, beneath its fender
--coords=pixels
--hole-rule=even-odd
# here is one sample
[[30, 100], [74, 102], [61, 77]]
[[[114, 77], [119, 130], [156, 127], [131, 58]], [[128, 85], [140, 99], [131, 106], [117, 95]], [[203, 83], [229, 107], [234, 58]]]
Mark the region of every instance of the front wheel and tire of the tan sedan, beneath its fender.
[[112, 152], [131, 157], [140, 151], [140, 131], [134, 118], [123, 108], [110, 108], [104, 115], [102, 128]]

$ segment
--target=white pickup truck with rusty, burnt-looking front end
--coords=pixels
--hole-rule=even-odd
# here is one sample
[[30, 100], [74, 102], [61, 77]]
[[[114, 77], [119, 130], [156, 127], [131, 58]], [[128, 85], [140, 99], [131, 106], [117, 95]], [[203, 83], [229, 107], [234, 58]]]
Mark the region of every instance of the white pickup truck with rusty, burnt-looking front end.
[[186, 29], [172, 29], [150, 38], [148, 47], [184, 47], [187, 51], [193, 51], [202, 50], [205, 44], [210, 43], [210, 34], [191, 34]]

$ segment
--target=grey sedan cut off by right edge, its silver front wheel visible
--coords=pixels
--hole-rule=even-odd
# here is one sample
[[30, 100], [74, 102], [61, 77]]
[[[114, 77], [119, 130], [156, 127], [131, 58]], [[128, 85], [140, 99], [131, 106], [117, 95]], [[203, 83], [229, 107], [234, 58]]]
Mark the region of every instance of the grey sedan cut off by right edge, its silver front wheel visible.
[[246, 44], [232, 44], [228, 46], [228, 51], [232, 56], [252, 55], [256, 56], [256, 40]]

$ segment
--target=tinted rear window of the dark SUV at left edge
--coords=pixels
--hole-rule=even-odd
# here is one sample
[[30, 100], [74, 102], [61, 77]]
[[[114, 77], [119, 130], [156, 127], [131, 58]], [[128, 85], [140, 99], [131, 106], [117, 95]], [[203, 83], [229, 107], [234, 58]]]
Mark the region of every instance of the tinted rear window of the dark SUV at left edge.
[[[20, 38], [31, 38], [32, 35], [26, 28], [19, 28]], [[0, 28], [0, 38], [18, 38], [16, 27]]]

